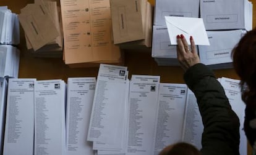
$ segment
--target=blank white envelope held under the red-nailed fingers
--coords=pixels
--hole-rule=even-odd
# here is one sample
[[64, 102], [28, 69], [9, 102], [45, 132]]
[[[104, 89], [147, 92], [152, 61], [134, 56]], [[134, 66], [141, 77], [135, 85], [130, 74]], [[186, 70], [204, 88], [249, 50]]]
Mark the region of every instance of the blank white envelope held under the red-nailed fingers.
[[188, 44], [190, 36], [193, 36], [196, 45], [210, 45], [202, 18], [166, 16], [165, 22], [172, 45], [177, 45], [177, 35], [180, 34], [185, 36]]

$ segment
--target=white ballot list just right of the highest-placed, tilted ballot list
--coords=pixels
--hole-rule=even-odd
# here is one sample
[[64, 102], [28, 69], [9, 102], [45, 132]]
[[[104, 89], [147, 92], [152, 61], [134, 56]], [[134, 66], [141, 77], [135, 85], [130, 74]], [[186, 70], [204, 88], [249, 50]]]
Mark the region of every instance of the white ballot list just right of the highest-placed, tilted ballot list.
[[160, 76], [132, 75], [129, 92], [127, 155], [153, 153]]

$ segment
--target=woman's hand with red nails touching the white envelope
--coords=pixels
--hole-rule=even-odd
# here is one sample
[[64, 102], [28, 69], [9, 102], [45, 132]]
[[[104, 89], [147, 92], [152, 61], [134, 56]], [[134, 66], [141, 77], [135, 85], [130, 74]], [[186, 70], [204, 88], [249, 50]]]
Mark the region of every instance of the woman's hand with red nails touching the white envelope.
[[181, 36], [177, 35], [177, 59], [181, 64], [181, 68], [186, 71], [197, 63], [200, 63], [200, 59], [197, 54], [197, 50], [195, 48], [195, 42], [192, 36], [190, 36], [190, 44], [187, 44], [186, 39], [181, 34]]

